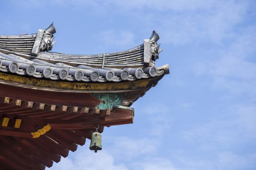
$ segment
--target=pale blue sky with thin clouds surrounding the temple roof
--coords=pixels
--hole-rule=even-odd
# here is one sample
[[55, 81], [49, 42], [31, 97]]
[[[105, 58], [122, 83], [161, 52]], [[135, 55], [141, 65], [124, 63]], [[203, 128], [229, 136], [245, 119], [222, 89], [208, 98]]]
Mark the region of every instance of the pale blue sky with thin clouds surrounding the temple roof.
[[170, 65], [133, 107], [133, 124], [105, 128], [50, 170], [255, 170], [255, 0], [9, 0], [0, 34], [37, 33], [54, 21], [53, 51], [133, 48], [157, 30]]

